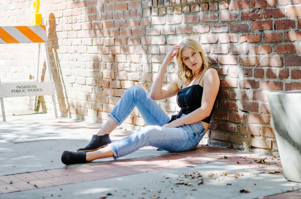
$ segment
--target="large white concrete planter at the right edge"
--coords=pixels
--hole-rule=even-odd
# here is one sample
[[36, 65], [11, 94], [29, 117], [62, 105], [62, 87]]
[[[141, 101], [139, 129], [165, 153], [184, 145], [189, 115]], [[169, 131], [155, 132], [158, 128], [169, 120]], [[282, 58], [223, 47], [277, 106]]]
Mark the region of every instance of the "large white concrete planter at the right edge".
[[301, 182], [301, 90], [268, 93], [284, 177]]

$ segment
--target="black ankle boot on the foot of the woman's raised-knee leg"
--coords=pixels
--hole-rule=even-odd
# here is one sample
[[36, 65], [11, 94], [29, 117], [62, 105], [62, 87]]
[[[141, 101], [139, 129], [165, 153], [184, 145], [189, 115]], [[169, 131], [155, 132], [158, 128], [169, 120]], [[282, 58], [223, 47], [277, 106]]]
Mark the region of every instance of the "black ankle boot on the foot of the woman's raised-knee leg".
[[82, 152], [96, 151], [100, 148], [106, 147], [111, 142], [112, 141], [109, 137], [109, 134], [105, 134], [103, 136], [93, 135], [89, 144], [84, 148], [77, 149], [77, 151], [78, 152], [79, 151], [82, 151]]

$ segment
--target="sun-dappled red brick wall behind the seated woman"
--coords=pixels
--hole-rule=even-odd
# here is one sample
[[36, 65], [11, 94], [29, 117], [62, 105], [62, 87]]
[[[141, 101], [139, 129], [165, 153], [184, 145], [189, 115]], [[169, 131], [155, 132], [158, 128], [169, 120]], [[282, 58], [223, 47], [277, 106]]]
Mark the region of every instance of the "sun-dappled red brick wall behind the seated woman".
[[[29, 25], [30, 4], [2, 1], [0, 24]], [[277, 152], [267, 93], [301, 88], [301, 0], [41, 0], [40, 5], [62, 116], [106, 121], [124, 91], [135, 84], [150, 89], [169, 46], [191, 36], [203, 44], [221, 81], [209, 143]], [[1, 46], [0, 51], [1, 78], [30, 73], [11, 55], [16, 50]], [[22, 53], [30, 54], [21, 57], [23, 65], [36, 64], [34, 52]], [[175, 71], [170, 64], [164, 83]], [[169, 115], [178, 111], [175, 98], [158, 103]], [[123, 127], [143, 125], [134, 110]]]

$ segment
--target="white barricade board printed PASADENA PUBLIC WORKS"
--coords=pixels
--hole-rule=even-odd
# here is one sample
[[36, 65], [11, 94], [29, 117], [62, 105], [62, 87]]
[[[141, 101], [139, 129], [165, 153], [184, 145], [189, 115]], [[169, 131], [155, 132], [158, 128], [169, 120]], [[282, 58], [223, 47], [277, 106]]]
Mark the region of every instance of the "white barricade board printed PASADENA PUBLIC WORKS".
[[50, 81], [0, 84], [0, 97], [44, 96], [54, 94], [54, 83]]

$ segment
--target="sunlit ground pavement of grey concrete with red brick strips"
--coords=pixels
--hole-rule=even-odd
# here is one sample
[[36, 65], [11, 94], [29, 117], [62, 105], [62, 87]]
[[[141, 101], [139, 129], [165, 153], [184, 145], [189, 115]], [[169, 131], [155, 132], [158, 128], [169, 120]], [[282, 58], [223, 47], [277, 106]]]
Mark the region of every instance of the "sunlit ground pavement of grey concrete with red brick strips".
[[85, 146], [101, 126], [8, 113], [0, 121], [0, 198], [301, 198], [301, 183], [284, 178], [279, 158], [206, 143], [185, 153], [144, 147], [116, 161], [61, 163], [64, 150]]

